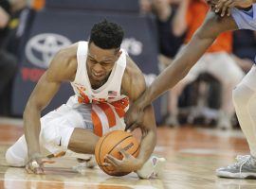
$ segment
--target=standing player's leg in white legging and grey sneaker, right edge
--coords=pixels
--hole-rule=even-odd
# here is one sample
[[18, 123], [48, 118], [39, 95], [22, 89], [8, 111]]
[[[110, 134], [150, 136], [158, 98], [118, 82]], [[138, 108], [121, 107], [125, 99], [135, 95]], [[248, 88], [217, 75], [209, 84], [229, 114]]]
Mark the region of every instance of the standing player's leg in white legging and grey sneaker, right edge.
[[238, 156], [237, 163], [216, 170], [219, 177], [256, 178], [256, 68], [253, 66], [247, 76], [233, 91], [235, 111], [243, 130], [250, 155]]

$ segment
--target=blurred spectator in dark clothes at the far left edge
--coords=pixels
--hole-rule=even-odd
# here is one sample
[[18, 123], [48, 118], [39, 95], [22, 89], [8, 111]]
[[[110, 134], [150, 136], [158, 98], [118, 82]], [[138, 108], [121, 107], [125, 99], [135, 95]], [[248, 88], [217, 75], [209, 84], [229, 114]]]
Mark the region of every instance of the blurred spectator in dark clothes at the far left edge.
[[[4, 92], [9, 89], [9, 82], [17, 70], [17, 60], [5, 49], [9, 35], [10, 5], [9, 1], [0, 1], [0, 112], [8, 113], [9, 105], [3, 100]], [[7, 94], [10, 95], [10, 94]]]

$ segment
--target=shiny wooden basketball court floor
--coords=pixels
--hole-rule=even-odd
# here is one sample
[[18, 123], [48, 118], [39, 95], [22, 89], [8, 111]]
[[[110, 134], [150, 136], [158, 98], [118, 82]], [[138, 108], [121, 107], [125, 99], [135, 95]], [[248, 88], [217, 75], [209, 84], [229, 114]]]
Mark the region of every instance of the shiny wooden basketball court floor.
[[[1, 122], [0, 122], [1, 123]], [[138, 180], [135, 173], [115, 178], [100, 168], [86, 169], [84, 174], [72, 171], [76, 161], [61, 158], [46, 168], [46, 175], [27, 174], [23, 168], [8, 167], [5, 151], [23, 134], [21, 127], [0, 124], [0, 188], [256, 188], [256, 180], [230, 180], [215, 176], [215, 169], [234, 161], [237, 154], [247, 154], [246, 140], [240, 131], [182, 127], [157, 129], [155, 154], [167, 159], [161, 179]]]

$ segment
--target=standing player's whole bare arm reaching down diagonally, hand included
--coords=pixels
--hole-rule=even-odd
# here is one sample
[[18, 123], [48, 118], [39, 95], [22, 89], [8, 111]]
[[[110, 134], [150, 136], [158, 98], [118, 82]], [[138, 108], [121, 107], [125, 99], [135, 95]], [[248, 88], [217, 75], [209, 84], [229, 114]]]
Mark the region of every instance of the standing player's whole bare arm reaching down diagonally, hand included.
[[213, 12], [209, 12], [204, 24], [197, 29], [191, 42], [178, 53], [173, 63], [155, 78], [152, 85], [126, 113], [126, 129], [139, 127], [143, 121], [145, 108], [160, 94], [173, 88], [178, 81], [186, 77], [192, 66], [203, 56], [219, 34], [234, 29], [237, 29], [237, 26], [232, 17], [221, 18]]

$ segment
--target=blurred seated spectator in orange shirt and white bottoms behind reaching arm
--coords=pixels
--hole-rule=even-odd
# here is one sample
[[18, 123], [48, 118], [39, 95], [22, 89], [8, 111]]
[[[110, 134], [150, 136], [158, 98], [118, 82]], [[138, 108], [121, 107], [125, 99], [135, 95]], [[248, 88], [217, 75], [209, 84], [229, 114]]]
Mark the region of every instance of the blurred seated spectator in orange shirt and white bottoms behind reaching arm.
[[[178, 26], [183, 26], [184, 31], [187, 31], [185, 43], [189, 43], [192, 34], [201, 26], [205, 16], [209, 10], [208, 5], [204, 0], [191, 0], [187, 8], [187, 16], [183, 21], [176, 23]], [[194, 49], [196, 50], [196, 49]], [[208, 52], [192, 67], [192, 70], [187, 77], [183, 78], [171, 90], [171, 106], [172, 112], [169, 117], [169, 123], [179, 125], [178, 114], [178, 97], [184, 87], [194, 81], [199, 74], [209, 73], [217, 78], [222, 86], [221, 90], [221, 109], [217, 120], [217, 126], [222, 129], [231, 129], [231, 116], [234, 114], [232, 105], [232, 89], [244, 77], [242, 69], [231, 59], [230, 53], [232, 50], [232, 36], [230, 32], [221, 34], [216, 41], [210, 46]]]

